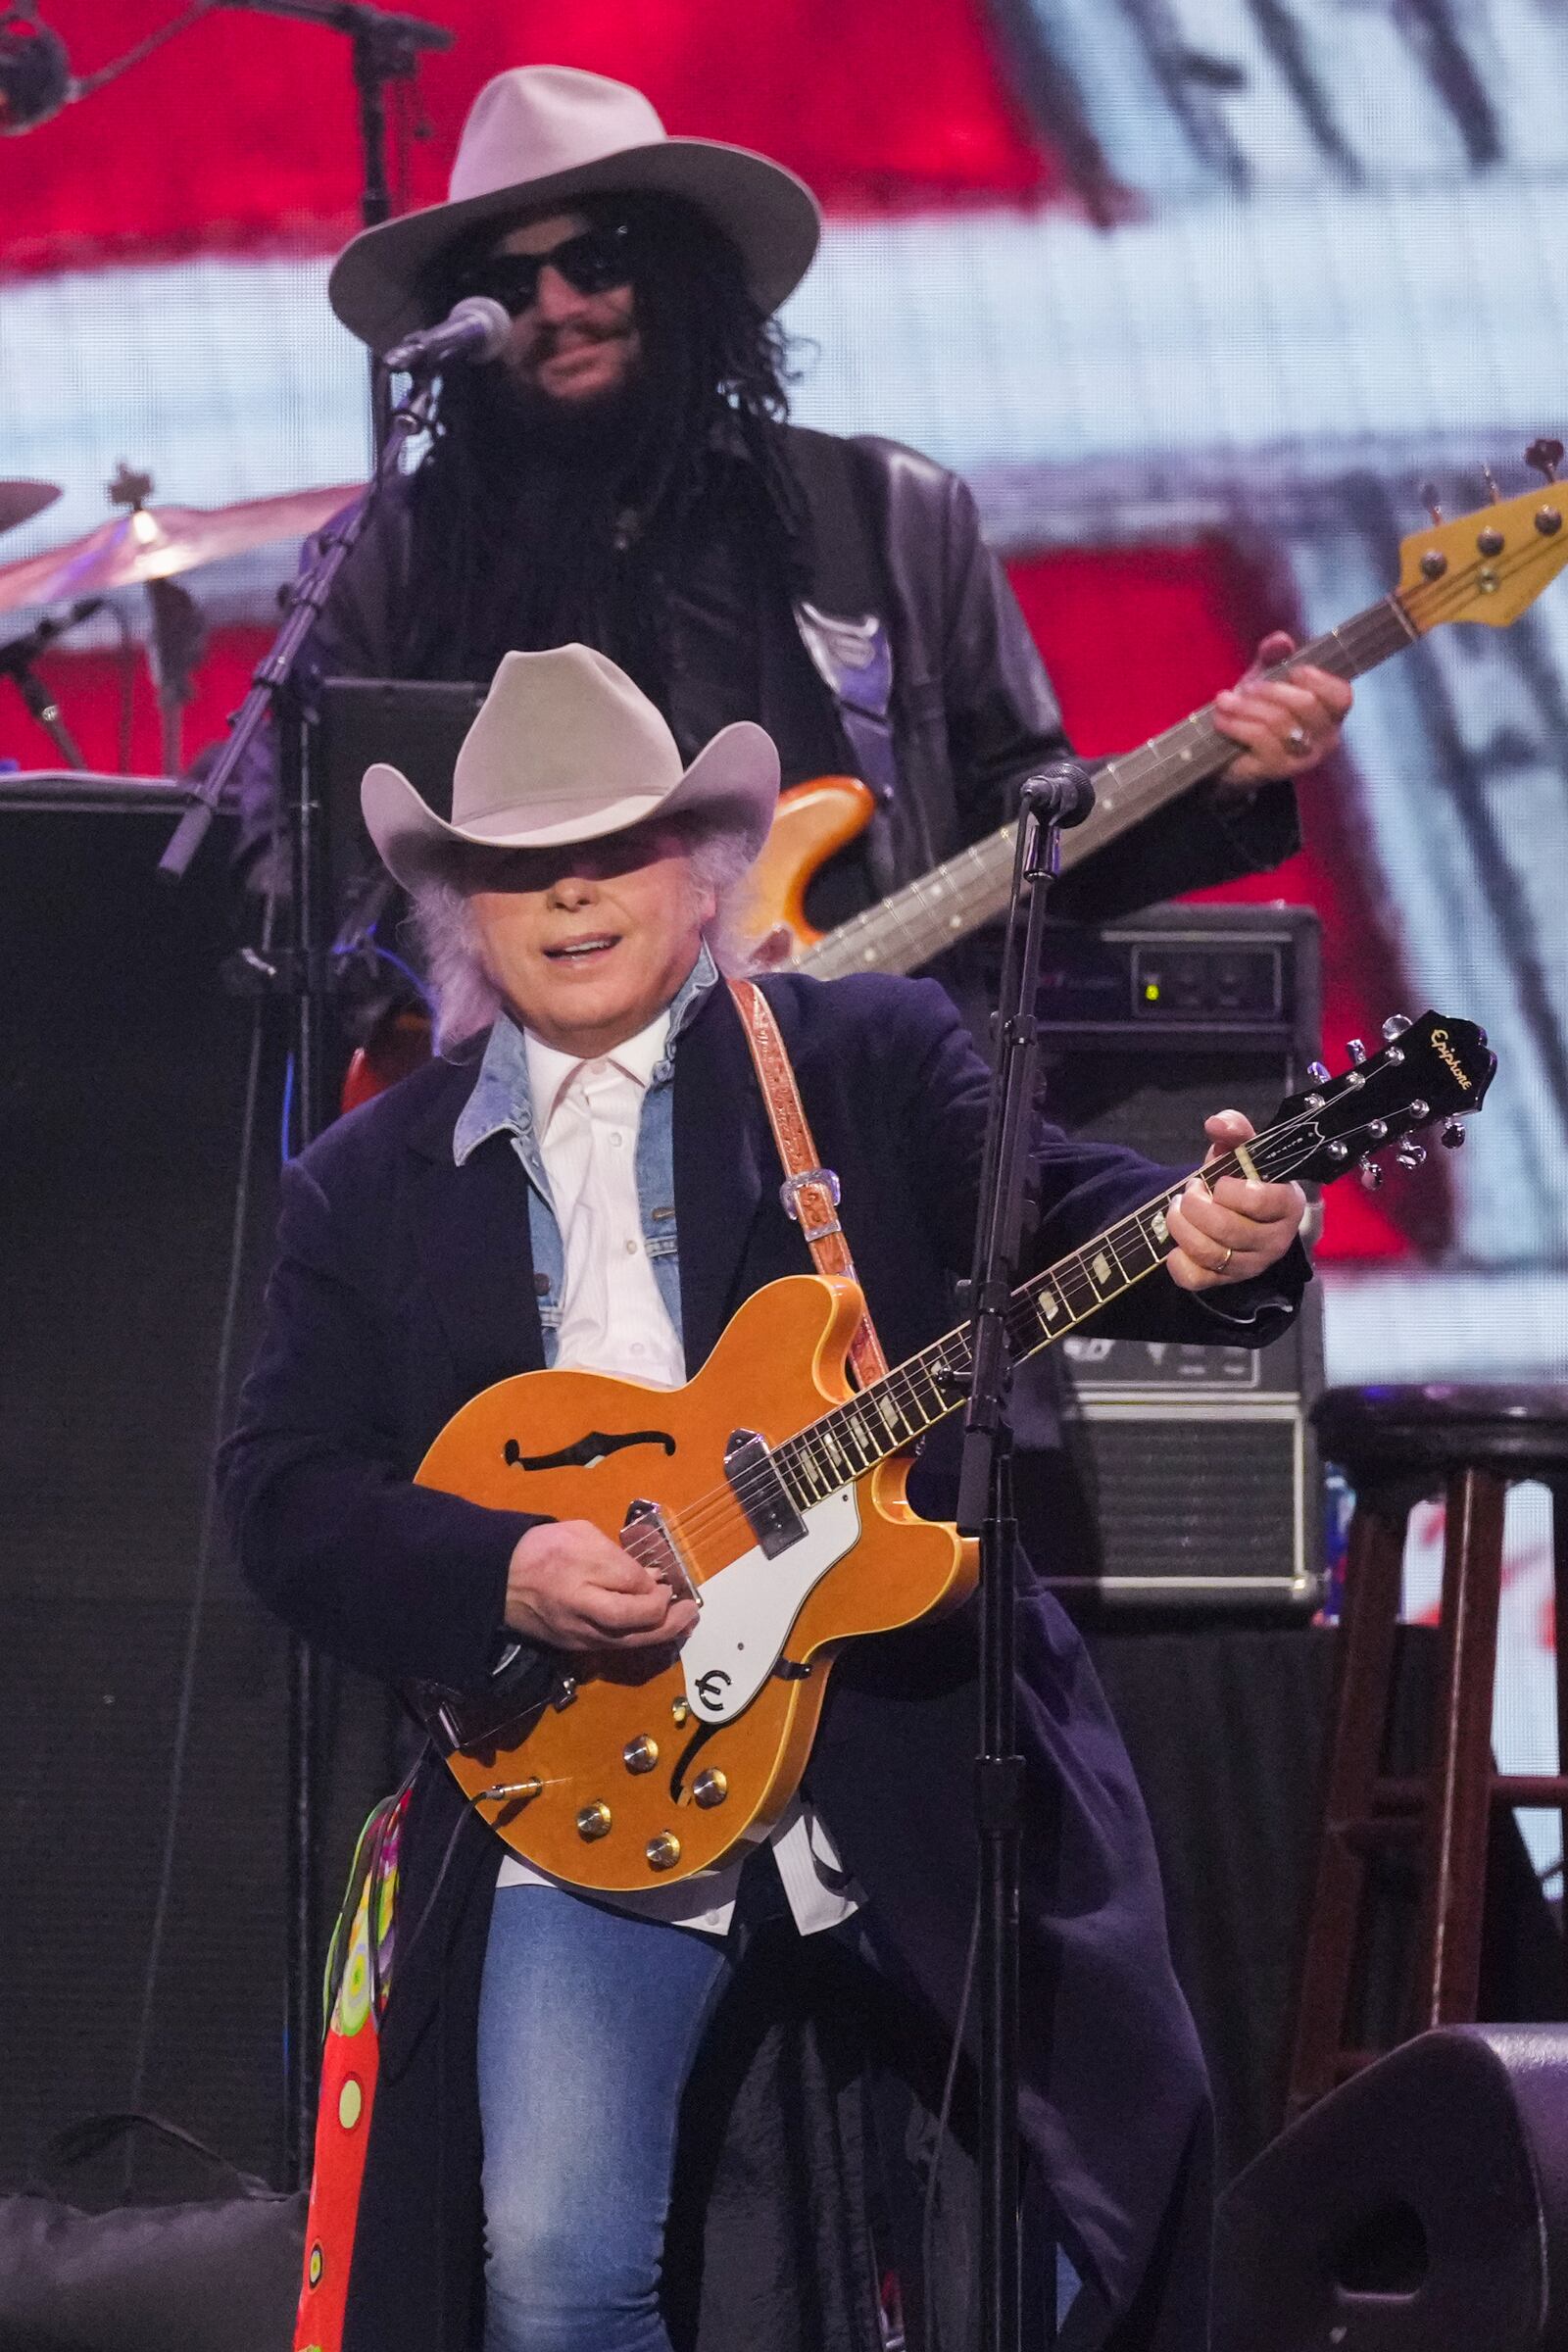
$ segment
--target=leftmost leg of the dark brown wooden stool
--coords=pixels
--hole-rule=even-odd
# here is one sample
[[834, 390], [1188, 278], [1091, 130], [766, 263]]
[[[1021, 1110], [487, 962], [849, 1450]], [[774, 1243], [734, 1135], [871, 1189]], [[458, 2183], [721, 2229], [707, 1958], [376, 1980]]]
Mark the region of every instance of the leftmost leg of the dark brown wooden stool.
[[1382, 1764], [1382, 1736], [1394, 1679], [1394, 1635], [1406, 1557], [1403, 1508], [1356, 1503], [1345, 1552], [1345, 1623], [1335, 1658], [1335, 1700], [1324, 1832], [1307, 1917], [1295, 2049], [1286, 2122], [1335, 2089], [1345, 2042], [1345, 2004], [1356, 1957], [1368, 1856], [1354, 1825], [1371, 1813], [1371, 1790]]

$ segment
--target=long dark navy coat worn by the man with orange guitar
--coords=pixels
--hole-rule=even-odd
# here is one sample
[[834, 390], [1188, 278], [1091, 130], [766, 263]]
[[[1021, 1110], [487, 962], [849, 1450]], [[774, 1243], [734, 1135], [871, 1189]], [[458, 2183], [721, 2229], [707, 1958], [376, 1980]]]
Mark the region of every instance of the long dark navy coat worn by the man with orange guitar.
[[[952, 1275], [969, 1272], [976, 1225], [987, 1073], [931, 981], [823, 985], [780, 976], [766, 981], [766, 995], [823, 1162], [842, 1178], [844, 1228], [882, 1343], [898, 1362], [954, 1319]], [[468, 1397], [543, 1364], [517, 1155], [496, 1136], [461, 1169], [451, 1157], [473, 1077], [473, 1065], [435, 1063], [287, 1169], [266, 1334], [223, 1454], [247, 1578], [310, 1642], [393, 1682], [484, 1679], [508, 1559], [531, 1524], [411, 1486], [430, 1439]], [[1194, 1136], [1194, 1160], [1199, 1150]], [[1173, 1174], [1044, 1124], [1037, 1160], [1041, 1218], [1030, 1254], [1039, 1265]], [[675, 1211], [691, 1371], [743, 1298], [809, 1270], [778, 1181], [738, 1016], [726, 990], [712, 990], [675, 1056]], [[1293, 1251], [1262, 1284], [1225, 1291], [1227, 1312], [1215, 1315], [1157, 1272], [1098, 1329], [1262, 1343], [1288, 1322], [1305, 1275]], [[1229, 1317], [1241, 1317], [1241, 1329]], [[950, 1461], [952, 1446], [933, 1439], [917, 1468], [912, 1496], [931, 1515], [952, 1508]], [[1032, 1581], [1018, 1668], [1027, 1762], [1023, 2126], [1088, 2277], [1112, 2310], [1126, 2310], [1157, 2249], [1173, 2279], [1201, 2272], [1199, 2260], [1185, 2272], [1171, 2263], [1168, 2211], [1204, 2133], [1204, 2070], [1171, 1973], [1131, 1766], [1077, 1632]], [[973, 1604], [851, 1649], [835, 1668], [806, 1783], [867, 1891], [875, 1938], [945, 2020], [957, 2013], [976, 1891], [973, 1670]], [[458, 1867], [444, 1853], [449, 1842]], [[447, 1773], [433, 1769], [414, 1813], [407, 1884], [435, 1884], [447, 1863], [442, 1903], [451, 1917], [395, 1978], [355, 2256], [364, 2317], [350, 2343], [374, 2343], [388, 2312], [400, 2312], [409, 2333], [381, 2340], [418, 2343], [421, 2352], [458, 2347], [473, 2328], [470, 2291], [454, 2284], [454, 2265], [477, 2258], [473, 2009], [496, 1851], [482, 1825], [463, 1825]], [[414, 2063], [437, 2011], [440, 2063]], [[425, 2107], [440, 2098], [440, 2114], [423, 2112], [416, 2129], [411, 2091], [397, 2110], [404, 2074], [425, 2086]], [[421, 2131], [425, 2145], [442, 2145], [440, 2194], [430, 2180], [411, 2192], [395, 2178]], [[411, 2319], [421, 2293], [435, 2300]], [[1166, 2312], [1138, 2340], [1185, 2352], [1201, 2326], [1197, 2293], [1173, 2286]]]

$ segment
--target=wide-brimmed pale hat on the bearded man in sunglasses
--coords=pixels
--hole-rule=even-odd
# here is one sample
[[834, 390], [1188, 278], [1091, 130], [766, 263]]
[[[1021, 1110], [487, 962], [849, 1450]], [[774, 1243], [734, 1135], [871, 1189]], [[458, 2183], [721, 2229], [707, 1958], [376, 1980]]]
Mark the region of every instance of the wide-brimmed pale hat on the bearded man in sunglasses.
[[670, 139], [642, 92], [602, 73], [515, 66], [468, 108], [449, 200], [357, 235], [334, 263], [331, 308], [371, 350], [390, 350], [433, 325], [430, 263], [463, 230], [639, 188], [684, 195], [717, 221], [764, 310], [811, 266], [823, 216], [795, 172], [717, 139]]

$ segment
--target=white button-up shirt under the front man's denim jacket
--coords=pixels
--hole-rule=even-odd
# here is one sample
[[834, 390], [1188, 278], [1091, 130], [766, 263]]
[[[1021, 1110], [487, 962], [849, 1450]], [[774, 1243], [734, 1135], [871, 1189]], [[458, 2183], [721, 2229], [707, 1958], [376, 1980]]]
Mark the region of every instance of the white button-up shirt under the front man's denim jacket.
[[[642, 1242], [637, 1127], [654, 1070], [665, 1056], [670, 1014], [611, 1054], [574, 1061], [524, 1030], [534, 1131], [562, 1235], [564, 1279], [555, 1338], [557, 1371], [607, 1371], [679, 1388], [686, 1357]], [[860, 1891], [823, 1823], [797, 1797], [771, 1835], [773, 1860], [802, 1936], [837, 1926], [860, 1907]], [[602, 1896], [670, 1926], [724, 1936], [736, 1907], [741, 1860], [696, 1882]], [[545, 1886], [543, 1870], [510, 1853], [498, 1886]]]

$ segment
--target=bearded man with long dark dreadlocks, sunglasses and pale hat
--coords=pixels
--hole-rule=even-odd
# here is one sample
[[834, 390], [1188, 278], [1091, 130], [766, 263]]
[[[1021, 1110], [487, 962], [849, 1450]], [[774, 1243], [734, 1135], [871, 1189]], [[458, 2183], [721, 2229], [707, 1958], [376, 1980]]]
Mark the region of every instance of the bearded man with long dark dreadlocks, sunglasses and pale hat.
[[[473, 292], [512, 329], [489, 365], [449, 369], [430, 454], [343, 572], [315, 654], [327, 673], [484, 684], [510, 649], [581, 640], [686, 757], [757, 720], [785, 786], [853, 771], [877, 793], [870, 835], [823, 877], [818, 910], [839, 920], [1001, 823], [1065, 746], [964, 485], [912, 449], [785, 423], [776, 310], [816, 242], [792, 172], [668, 136], [623, 82], [567, 66], [487, 82], [449, 200], [355, 238], [329, 292], [371, 350]], [[1220, 699], [1222, 786], [1091, 858], [1058, 913], [1276, 863], [1295, 847], [1284, 779], [1333, 748], [1347, 706], [1321, 670], [1241, 680]], [[273, 818], [263, 750], [247, 856]]]

